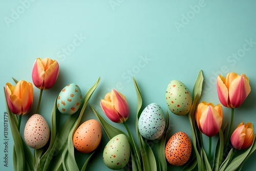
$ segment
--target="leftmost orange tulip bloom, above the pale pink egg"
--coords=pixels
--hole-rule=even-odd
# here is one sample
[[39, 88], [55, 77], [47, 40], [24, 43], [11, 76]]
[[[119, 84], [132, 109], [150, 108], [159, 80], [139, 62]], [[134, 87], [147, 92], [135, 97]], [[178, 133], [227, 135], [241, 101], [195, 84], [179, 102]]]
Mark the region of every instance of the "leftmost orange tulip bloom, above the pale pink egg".
[[33, 85], [30, 82], [20, 80], [16, 86], [9, 82], [5, 86], [6, 100], [12, 113], [26, 115], [33, 102]]

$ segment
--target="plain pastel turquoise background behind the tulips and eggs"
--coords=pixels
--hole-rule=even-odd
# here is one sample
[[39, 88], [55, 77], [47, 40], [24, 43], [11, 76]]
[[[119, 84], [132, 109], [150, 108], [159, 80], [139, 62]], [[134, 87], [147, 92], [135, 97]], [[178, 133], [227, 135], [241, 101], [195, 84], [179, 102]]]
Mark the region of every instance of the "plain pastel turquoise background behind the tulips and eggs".
[[[1, 0], [0, 85], [13, 83], [12, 77], [32, 82], [31, 70], [36, 58], [56, 59], [59, 76], [53, 88], [44, 91], [40, 110], [49, 124], [55, 97], [63, 87], [77, 83], [85, 94], [100, 77], [90, 104], [105, 117], [100, 99], [112, 88], [120, 91], [129, 103], [131, 113], [127, 124], [135, 136], [137, 97], [132, 77], [141, 89], [143, 108], [155, 102], [166, 111], [165, 90], [171, 80], [182, 81], [191, 92], [202, 70], [205, 80], [201, 101], [218, 104], [216, 77], [228, 72], [245, 73], [251, 92], [235, 110], [233, 125], [245, 121], [256, 128], [255, 9], [255, 1]], [[23, 117], [23, 129], [35, 112], [38, 96], [39, 90], [34, 87], [34, 105]], [[0, 98], [0, 170], [13, 170], [10, 129], [8, 168], [3, 163], [6, 111], [3, 91]], [[223, 122], [229, 122], [230, 110], [223, 107], [223, 112]], [[63, 116], [62, 120], [66, 118]], [[91, 118], [95, 116], [88, 108], [82, 121]], [[169, 112], [169, 118], [167, 139], [178, 131], [191, 138], [187, 115]], [[114, 125], [124, 130], [122, 124]], [[213, 138], [212, 148], [217, 138]], [[103, 132], [102, 144], [107, 142]], [[108, 170], [102, 161], [102, 147], [100, 150], [89, 170]], [[88, 155], [78, 152], [76, 155], [81, 167]], [[253, 153], [243, 170], [255, 169], [255, 157]], [[168, 164], [168, 170], [181, 169]]]

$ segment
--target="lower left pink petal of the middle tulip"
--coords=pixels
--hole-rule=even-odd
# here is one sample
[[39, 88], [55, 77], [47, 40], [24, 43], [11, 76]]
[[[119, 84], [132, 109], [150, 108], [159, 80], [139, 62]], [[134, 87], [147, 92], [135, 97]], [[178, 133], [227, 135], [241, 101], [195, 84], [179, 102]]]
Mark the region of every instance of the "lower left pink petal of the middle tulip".
[[100, 101], [101, 108], [105, 115], [113, 122], [121, 123], [122, 120], [120, 119], [120, 116], [118, 112], [114, 108], [114, 104], [110, 101], [101, 100]]

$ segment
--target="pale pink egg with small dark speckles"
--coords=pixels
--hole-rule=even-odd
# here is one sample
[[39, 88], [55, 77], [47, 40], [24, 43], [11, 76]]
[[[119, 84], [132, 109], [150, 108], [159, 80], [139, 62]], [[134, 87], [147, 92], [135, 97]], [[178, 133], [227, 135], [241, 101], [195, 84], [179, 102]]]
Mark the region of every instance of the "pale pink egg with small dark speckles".
[[50, 137], [47, 121], [39, 114], [32, 115], [25, 125], [24, 139], [31, 148], [41, 148], [46, 145]]

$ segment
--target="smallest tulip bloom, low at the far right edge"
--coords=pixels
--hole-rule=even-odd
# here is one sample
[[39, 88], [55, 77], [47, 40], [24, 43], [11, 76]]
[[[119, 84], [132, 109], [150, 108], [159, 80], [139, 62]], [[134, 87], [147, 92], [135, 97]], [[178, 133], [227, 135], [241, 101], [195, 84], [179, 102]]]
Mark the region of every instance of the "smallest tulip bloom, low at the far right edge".
[[230, 137], [232, 146], [238, 150], [248, 148], [253, 143], [253, 140], [254, 131], [250, 122], [246, 124], [244, 122], [240, 123]]

